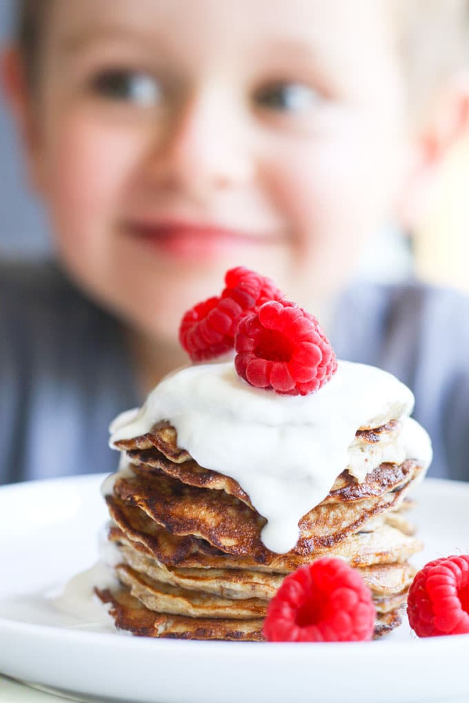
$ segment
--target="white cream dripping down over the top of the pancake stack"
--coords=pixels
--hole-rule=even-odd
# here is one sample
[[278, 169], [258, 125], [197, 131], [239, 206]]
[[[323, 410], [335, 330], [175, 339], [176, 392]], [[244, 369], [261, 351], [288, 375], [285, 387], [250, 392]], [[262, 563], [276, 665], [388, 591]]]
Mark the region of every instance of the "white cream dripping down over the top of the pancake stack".
[[[301, 517], [326, 498], [349, 463], [353, 474], [349, 448], [356, 430], [408, 418], [412, 409], [409, 388], [364, 364], [339, 361], [333, 378], [307, 396], [252, 387], [232, 362], [200, 364], [171, 373], [142, 408], [118, 415], [110, 425], [110, 446], [168, 420], [178, 445], [198, 464], [238, 481], [266, 517], [264, 545], [285, 553], [297, 542]], [[404, 420], [399, 436], [401, 460], [416, 459], [427, 467], [431, 446], [425, 430]], [[389, 447], [390, 458], [383, 451], [380, 461], [395, 460], [395, 446]], [[363, 480], [363, 466], [357, 473]]]

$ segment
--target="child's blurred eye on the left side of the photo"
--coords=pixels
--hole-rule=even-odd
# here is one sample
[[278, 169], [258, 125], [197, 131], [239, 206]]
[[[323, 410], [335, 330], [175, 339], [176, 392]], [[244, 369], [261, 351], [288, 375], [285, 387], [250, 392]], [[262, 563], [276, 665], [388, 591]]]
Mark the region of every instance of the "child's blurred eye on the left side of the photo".
[[155, 105], [161, 99], [161, 86], [146, 72], [112, 69], [98, 73], [91, 81], [94, 93], [115, 101]]

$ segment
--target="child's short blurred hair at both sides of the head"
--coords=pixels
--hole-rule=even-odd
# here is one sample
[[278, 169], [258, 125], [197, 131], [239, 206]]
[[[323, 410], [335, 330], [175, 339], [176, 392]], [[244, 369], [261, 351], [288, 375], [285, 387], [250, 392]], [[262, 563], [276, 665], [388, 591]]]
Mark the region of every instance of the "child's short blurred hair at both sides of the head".
[[[41, 38], [54, 0], [18, 0], [16, 37], [27, 80], [39, 81]], [[387, 0], [412, 105], [423, 105], [469, 60], [469, 0]]]

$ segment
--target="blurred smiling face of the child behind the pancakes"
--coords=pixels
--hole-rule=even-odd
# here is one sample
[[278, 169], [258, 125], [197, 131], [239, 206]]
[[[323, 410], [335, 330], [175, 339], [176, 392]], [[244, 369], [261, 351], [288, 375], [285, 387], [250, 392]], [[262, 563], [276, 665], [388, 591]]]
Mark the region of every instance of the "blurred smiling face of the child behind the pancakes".
[[321, 308], [390, 217], [377, 0], [54, 0], [32, 149], [75, 279], [152, 337], [244, 264]]

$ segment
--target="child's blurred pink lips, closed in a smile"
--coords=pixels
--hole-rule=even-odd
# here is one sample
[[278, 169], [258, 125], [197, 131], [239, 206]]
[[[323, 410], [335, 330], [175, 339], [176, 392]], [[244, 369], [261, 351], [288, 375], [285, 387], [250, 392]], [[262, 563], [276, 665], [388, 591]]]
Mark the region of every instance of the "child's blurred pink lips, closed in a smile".
[[131, 223], [127, 232], [150, 247], [174, 257], [216, 257], [236, 247], [278, 242], [269, 233], [248, 233], [224, 227], [180, 222]]

